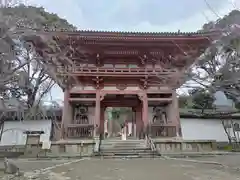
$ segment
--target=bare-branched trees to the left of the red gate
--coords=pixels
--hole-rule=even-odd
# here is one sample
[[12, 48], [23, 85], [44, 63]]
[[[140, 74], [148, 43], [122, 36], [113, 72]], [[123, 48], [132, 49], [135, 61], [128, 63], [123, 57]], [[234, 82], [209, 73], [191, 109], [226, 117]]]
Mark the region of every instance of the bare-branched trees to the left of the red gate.
[[[3, 106], [6, 98], [23, 103], [29, 111], [24, 119], [30, 119], [57, 79], [22, 37], [46, 28], [73, 30], [75, 27], [43, 8], [21, 3], [24, 2], [1, 1], [0, 4], [0, 96]], [[2, 115], [6, 108], [1, 108]]]

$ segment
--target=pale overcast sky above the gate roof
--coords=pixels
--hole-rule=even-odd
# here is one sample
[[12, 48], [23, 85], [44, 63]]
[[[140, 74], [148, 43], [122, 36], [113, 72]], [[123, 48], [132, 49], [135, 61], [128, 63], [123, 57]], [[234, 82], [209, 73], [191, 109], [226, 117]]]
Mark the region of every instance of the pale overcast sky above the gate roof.
[[[214, 12], [205, 0], [29, 1], [57, 13], [79, 29], [114, 31], [197, 31], [209, 20], [240, 8], [240, 0], [207, 0]], [[63, 98], [57, 88], [54, 97]]]

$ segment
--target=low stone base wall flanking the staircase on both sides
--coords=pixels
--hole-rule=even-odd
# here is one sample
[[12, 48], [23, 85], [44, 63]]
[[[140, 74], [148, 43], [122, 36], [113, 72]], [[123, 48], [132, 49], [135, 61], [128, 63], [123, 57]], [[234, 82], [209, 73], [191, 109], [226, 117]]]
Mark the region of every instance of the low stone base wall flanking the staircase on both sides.
[[[216, 141], [183, 141], [175, 139], [153, 139], [153, 141], [159, 153], [212, 152], [217, 150]], [[32, 142], [21, 147], [2, 147], [1, 154], [5, 157], [22, 155], [23, 153], [24, 157], [83, 157], [93, 155], [94, 147], [94, 140], [64, 140], [51, 142], [51, 148], [45, 151], [42, 149], [41, 143]]]

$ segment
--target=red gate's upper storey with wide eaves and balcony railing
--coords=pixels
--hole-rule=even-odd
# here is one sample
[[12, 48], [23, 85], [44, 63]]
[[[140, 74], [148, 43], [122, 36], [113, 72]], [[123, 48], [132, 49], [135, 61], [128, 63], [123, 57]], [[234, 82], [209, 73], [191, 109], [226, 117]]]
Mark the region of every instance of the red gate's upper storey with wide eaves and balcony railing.
[[98, 77], [101, 82], [108, 84], [110, 81], [112, 83], [121, 79], [126, 82], [126, 79], [131, 79], [134, 84], [149, 81], [148, 85], [153, 86], [172, 82], [176, 88], [182, 83], [182, 80], [179, 82], [180, 75], [218, 35], [219, 31], [173, 33], [63, 30], [36, 31], [23, 38], [42, 57], [49, 74], [55, 80], [62, 79], [57, 82], [61, 87], [66, 84], [66, 77], [68, 82], [69, 79], [76, 82], [81, 79], [94, 83]]

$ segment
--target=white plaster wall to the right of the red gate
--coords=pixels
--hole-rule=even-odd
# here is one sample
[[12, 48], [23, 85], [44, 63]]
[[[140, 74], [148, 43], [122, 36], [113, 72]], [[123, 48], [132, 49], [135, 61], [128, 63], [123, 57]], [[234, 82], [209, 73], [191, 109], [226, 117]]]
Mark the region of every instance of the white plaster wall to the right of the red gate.
[[[222, 122], [219, 119], [181, 118], [182, 135], [184, 140], [216, 140], [227, 142]], [[240, 124], [240, 120], [234, 120]], [[229, 130], [233, 137], [232, 130]]]

